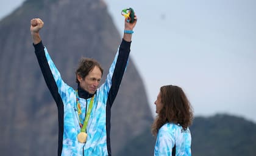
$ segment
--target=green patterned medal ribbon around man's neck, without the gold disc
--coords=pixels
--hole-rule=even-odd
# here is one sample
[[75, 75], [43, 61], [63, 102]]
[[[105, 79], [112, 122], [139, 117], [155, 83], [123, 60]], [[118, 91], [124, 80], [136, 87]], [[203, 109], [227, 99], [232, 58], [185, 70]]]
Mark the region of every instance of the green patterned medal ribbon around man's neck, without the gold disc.
[[82, 127], [82, 129], [80, 130], [80, 132], [85, 132], [86, 128], [87, 128], [87, 124], [91, 115], [91, 110], [93, 108], [93, 101], [94, 101], [94, 95], [91, 98], [90, 104], [89, 104], [89, 109], [85, 115], [85, 120], [84, 120], [84, 124], [82, 124], [82, 118], [80, 118], [80, 115], [82, 114], [81, 111], [81, 106], [80, 106], [80, 102], [79, 102], [79, 96], [78, 96], [78, 92], [76, 90], [76, 103], [77, 103], [77, 114], [79, 117], [79, 126]]

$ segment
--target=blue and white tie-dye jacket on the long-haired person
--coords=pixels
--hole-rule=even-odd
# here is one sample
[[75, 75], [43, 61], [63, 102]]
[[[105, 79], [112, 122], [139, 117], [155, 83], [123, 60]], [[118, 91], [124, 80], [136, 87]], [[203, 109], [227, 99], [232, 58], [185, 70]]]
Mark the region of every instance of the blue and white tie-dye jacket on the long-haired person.
[[154, 156], [190, 156], [190, 129], [173, 123], [164, 124], [158, 131]]

